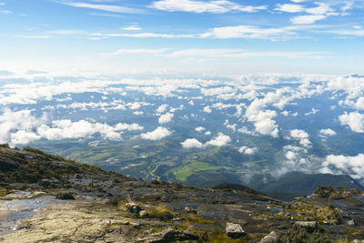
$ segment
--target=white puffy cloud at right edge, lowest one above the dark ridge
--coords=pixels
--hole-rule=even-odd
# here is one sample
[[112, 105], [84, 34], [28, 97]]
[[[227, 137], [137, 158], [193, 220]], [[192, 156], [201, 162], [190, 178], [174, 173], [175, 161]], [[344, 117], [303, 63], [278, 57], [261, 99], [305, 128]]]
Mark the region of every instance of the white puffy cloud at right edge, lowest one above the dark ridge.
[[364, 177], [364, 155], [355, 157], [343, 155], [329, 155], [322, 163], [321, 173], [349, 174], [351, 177], [362, 180]]

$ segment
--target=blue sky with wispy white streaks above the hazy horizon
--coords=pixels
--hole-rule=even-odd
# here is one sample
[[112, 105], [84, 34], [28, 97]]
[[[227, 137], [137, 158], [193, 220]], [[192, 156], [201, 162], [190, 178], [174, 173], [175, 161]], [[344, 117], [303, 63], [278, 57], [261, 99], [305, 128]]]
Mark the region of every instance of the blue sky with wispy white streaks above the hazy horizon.
[[0, 72], [362, 73], [363, 0], [0, 0]]

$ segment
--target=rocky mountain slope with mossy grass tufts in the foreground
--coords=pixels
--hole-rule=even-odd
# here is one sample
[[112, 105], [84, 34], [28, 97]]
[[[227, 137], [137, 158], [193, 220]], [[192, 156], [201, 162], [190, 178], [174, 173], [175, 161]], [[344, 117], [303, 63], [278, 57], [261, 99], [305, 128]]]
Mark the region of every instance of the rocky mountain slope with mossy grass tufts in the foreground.
[[[26, 148], [0, 148], [1, 242], [361, 242], [361, 191], [283, 202], [248, 187], [146, 183]], [[363, 241], [364, 242], [364, 241]]]

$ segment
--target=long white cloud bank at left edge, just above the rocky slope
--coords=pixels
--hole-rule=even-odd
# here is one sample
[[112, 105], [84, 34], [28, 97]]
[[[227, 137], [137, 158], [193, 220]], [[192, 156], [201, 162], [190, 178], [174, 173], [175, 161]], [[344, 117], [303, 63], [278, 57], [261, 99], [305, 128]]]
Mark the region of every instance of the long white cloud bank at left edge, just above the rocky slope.
[[122, 131], [143, 130], [138, 124], [118, 123], [115, 127], [101, 123], [90, 123], [86, 120], [72, 122], [69, 119], [54, 120], [47, 125], [46, 116], [32, 116], [31, 110], [13, 112], [6, 110], [0, 116], [0, 143], [12, 145], [27, 144], [41, 138], [59, 140], [65, 138], [90, 137], [99, 133], [111, 140], [121, 139]]

